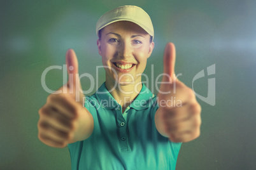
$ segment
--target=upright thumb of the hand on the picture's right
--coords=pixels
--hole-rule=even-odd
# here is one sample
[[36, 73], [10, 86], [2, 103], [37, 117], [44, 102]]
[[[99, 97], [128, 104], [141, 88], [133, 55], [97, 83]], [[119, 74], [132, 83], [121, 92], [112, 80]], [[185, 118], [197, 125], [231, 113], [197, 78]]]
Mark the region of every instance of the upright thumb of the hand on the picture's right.
[[[164, 74], [169, 75], [172, 81], [174, 80], [174, 67], [175, 67], [176, 51], [175, 46], [172, 42], [166, 44], [164, 49]], [[166, 76], [164, 76], [166, 77]], [[166, 77], [167, 78], [167, 77]]]

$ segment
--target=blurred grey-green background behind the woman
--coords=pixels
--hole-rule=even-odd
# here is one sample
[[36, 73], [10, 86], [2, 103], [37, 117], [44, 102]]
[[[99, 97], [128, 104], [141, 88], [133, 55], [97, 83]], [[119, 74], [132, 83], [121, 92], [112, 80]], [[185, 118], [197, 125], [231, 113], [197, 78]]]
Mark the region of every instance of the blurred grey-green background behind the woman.
[[[65, 64], [68, 48], [78, 56], [80, 73], [96, 77], [101, 56], [96, 22], [106, 11], [133, 4], [152, 18], [155, 49], [145, 74], [154, 93], [162, 73], [166, 42], [176, 45], [176, 73], [192, 88], [193, 77], [216, 64], [216, 74], [194, 82], [207, 96], [216, 79], [216, 105], [202, 106], [201, 136], [183, 143], [176, 169], [255, 169], [256, 1], [0, 1], [0, 169], [71, 169], [68, 148], [38, 140], [38, 110], [49, 95], [43, 70]], [[153, 76], [152, 73], [153, 65]], [[82, 79], [83, 89], [90, 80]], [[99, 84], [104, 71], [99, 70]], [[62, 70], [51, 70], [46, 85], [62, 86]], [[96, 91], [89, 93], [92, 95]], [[93, 163], [93, 162], [92, 162]]]

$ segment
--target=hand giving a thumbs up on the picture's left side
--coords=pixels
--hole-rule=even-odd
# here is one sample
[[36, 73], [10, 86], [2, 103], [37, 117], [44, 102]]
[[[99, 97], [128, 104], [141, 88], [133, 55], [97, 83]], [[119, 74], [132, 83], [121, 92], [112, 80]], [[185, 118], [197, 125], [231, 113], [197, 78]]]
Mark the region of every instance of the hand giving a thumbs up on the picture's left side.
[[[92, 115], [83, 107], [78, 60], [75, 51], [66, 53], [69, 81], [48, 96], [39, 110], [38, 138], [50, 147], [63, 148], [68, 143], [89, 138], [94, 128]], [[57, 91], [56, 91], [57, 92]]]

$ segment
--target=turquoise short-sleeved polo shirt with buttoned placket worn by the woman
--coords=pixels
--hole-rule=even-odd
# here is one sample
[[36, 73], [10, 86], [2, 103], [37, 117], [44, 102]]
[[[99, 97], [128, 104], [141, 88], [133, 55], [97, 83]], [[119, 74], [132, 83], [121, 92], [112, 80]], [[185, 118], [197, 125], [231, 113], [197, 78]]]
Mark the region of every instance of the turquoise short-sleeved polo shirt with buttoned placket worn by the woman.
[[157, 98], [143, 84], [122, 114], [105, 83], [85, 107], [94, 118], [89, 138], [68, 145], [72, 169], [175, 169], [181, 143], [173, 143], [155, 128]]

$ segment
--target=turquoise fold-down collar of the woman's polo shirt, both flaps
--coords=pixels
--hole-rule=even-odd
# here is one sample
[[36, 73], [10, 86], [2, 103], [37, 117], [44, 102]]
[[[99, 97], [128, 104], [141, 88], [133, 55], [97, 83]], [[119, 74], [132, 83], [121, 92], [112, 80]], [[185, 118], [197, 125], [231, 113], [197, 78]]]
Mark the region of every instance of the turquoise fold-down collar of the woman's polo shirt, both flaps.
[[[119, 103], [113, 98], [108, 89], [106, 88], [105, 82], [101, 85], [99, 89], [96, 91], [97, 100], [101, 107], [106, 109], [113, 109], [115, 107], [120, 107]], [[135, 110], [143, 110], [149, 107], [152, 104], [152, 98], [154, 95], [150, 91], [150, 89], [146, 88], [145, 84], [142, 84], [141, 91], [139, 95], [132, 101], [129, 105], [130, 108], [134, 108]]]

